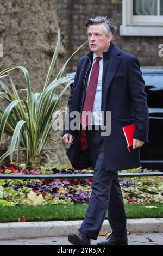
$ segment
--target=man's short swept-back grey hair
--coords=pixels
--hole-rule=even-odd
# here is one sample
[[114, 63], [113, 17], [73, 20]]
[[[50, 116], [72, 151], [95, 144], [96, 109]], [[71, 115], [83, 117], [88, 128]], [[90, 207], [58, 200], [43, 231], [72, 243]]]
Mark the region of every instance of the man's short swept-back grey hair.
[[98, 24], [104, 24], [106, 28], [107, 34], [114, 34], [114, 25], [111, 21], [111, 19], [108, 19], [108, 17], [104, 16], [97, 16], [95, 19], [91, 18], [87, 20], [86, 27], [89, 27], [91, 25], [98, 25]]

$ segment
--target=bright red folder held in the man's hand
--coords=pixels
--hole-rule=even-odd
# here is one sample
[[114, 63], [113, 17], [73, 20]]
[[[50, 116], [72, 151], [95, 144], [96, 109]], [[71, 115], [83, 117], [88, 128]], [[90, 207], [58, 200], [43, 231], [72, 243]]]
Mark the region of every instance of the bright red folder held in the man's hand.
[[124, 136], [126, 138], [128, 151], [130, 152], [129, 147], [133, 145], [133, 138], [134, 138], [134, 132], [136, 130], [136, 125], [130, 124], [130, 125], [122, 127], [122, 129], [124, 132]]

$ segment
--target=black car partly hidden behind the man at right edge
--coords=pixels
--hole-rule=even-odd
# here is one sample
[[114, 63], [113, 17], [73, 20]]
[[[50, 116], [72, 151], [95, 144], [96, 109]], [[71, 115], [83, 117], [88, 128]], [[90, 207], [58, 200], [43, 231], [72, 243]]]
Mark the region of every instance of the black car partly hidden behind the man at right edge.
[[149, 107], [149, 143], [140, 149], [143, 167], [163, 170], [163, 67], [142, 67]]

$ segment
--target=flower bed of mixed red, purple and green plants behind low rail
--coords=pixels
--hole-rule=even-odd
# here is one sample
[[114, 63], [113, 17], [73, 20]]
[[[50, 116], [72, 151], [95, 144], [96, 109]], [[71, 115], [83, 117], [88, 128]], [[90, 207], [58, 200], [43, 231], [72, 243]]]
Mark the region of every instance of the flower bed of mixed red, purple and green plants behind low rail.
[[[14, 164], [0, 166], [0, 175], [83, 173], [93, 173], [93, 170], [58, 166], [52, 169], [42, 167], [39, 172], [28, 172]], [[0, 180], [0, 205], [87, 204], [91, 194], [91, 182], [92, 179]], [[124, 203], [163, 203], [161, 177], [120, 179], [120, 184]]]

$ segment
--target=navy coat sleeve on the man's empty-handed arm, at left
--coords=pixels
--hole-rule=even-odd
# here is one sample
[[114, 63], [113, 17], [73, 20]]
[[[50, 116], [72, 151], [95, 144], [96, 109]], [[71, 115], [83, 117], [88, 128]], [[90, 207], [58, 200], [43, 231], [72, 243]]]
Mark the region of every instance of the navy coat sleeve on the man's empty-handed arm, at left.
[[[78, 62], [79, 63], [79, 62]], [[77, 83], [78, 83], [78, 64], [77, 64], [77, 71], [76, 74], [74, 76], [74, 82], [71, 84], [71, 93], [68, 99], [68, 103], [67, 103], [67, 108], [68, 108], [68, 112], [66, 114], [65, 117], [65, 123], [64, 123], [64, 127], [63, 127], [63, 132], [62, 132], [62, 137], [66, 134], [66, 133], [70, 133], [71, 135], [73, 135], [73, 131], [70, 129], [70, 113], [72, 111], [72, 96], [73, 96], [73, 91], [74, 88], [76, 87]]]

